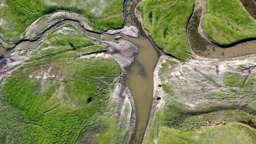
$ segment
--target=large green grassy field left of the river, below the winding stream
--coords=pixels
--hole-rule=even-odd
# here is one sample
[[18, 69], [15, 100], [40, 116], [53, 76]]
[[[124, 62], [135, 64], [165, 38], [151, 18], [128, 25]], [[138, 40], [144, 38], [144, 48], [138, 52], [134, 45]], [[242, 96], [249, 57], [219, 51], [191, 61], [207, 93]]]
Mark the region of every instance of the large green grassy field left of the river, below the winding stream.
[[124, 143], [127, 129], [108, 100], [119, 65], [88, 55], [104, 49], [70, 24], [50, 33], [2, 88], [0, 142]]

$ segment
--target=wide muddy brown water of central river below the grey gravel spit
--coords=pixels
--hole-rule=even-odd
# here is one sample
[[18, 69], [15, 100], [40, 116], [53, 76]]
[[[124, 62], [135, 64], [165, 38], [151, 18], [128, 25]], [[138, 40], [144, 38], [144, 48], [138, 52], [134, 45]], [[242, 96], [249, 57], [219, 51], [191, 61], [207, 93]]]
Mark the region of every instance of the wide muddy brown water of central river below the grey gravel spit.
[[123, 34], [103, 35], [104, 40], [114, 41], [116, 36], [124, 36], [119, 40], [128, 40], [135, 44], [139, 53], [131, 66], [125, 68], [128, 76], [128, 87], [134, 100], [136, 109], [136, 132], [132, 136], [132, 144], [141, 144], [148, 124], [153, 101], [153, 72], [158, 61], [158, 52], [150, 40], [140, 35], [139, 38], [128, 37]]

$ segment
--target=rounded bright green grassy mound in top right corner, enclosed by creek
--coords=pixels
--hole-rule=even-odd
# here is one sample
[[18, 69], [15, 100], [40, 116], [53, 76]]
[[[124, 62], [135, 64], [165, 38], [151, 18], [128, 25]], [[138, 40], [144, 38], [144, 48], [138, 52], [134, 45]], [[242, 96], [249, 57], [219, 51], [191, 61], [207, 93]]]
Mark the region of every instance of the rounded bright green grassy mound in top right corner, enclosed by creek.
[[239, 0], [208, 0], [204, 28], [209, 38], [220, 45], [256, 37], [256, 20]]

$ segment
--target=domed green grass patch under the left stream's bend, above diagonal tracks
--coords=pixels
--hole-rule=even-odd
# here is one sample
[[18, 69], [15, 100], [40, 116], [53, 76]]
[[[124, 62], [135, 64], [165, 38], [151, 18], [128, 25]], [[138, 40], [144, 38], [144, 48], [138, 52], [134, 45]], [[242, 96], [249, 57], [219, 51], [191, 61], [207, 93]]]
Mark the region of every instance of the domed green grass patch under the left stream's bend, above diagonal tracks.
[[72, 24], [64, 24], [46, 36], [46, 40], [40, 47], [32, 52], [31, 58], [39, 59], [72, 50], [76, 50], [80, 55], [86, 55], [105, 51], [106, 48], [102, 45], [95, 45], [93, 40]]

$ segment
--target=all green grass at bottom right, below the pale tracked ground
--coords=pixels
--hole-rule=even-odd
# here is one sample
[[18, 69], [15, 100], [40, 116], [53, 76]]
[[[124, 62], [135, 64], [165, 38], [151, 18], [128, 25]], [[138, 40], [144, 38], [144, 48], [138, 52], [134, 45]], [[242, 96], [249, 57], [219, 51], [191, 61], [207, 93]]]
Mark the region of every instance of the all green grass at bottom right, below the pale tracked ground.
[[[169, 105], [168, 102], [167, 105]], [[158, 108], [151, 129], [145, 139], [145, 144], [253, 144], [256, 141], [256, 131], [240, 126], [226, 125], [236, 120], [254, 120], [255, 116], [242, 110], [222, 110], [200, 114], [185, 109], [182, 104], [174, 102], [169, 109]], [[208, 111], [208, 110], [206, 110]], [[217, 127], [209, 127], [219, 124]], [[219, 140], [219, 141], [218, 141]], [[217, 142], [218, 141], [218, 142]]]

